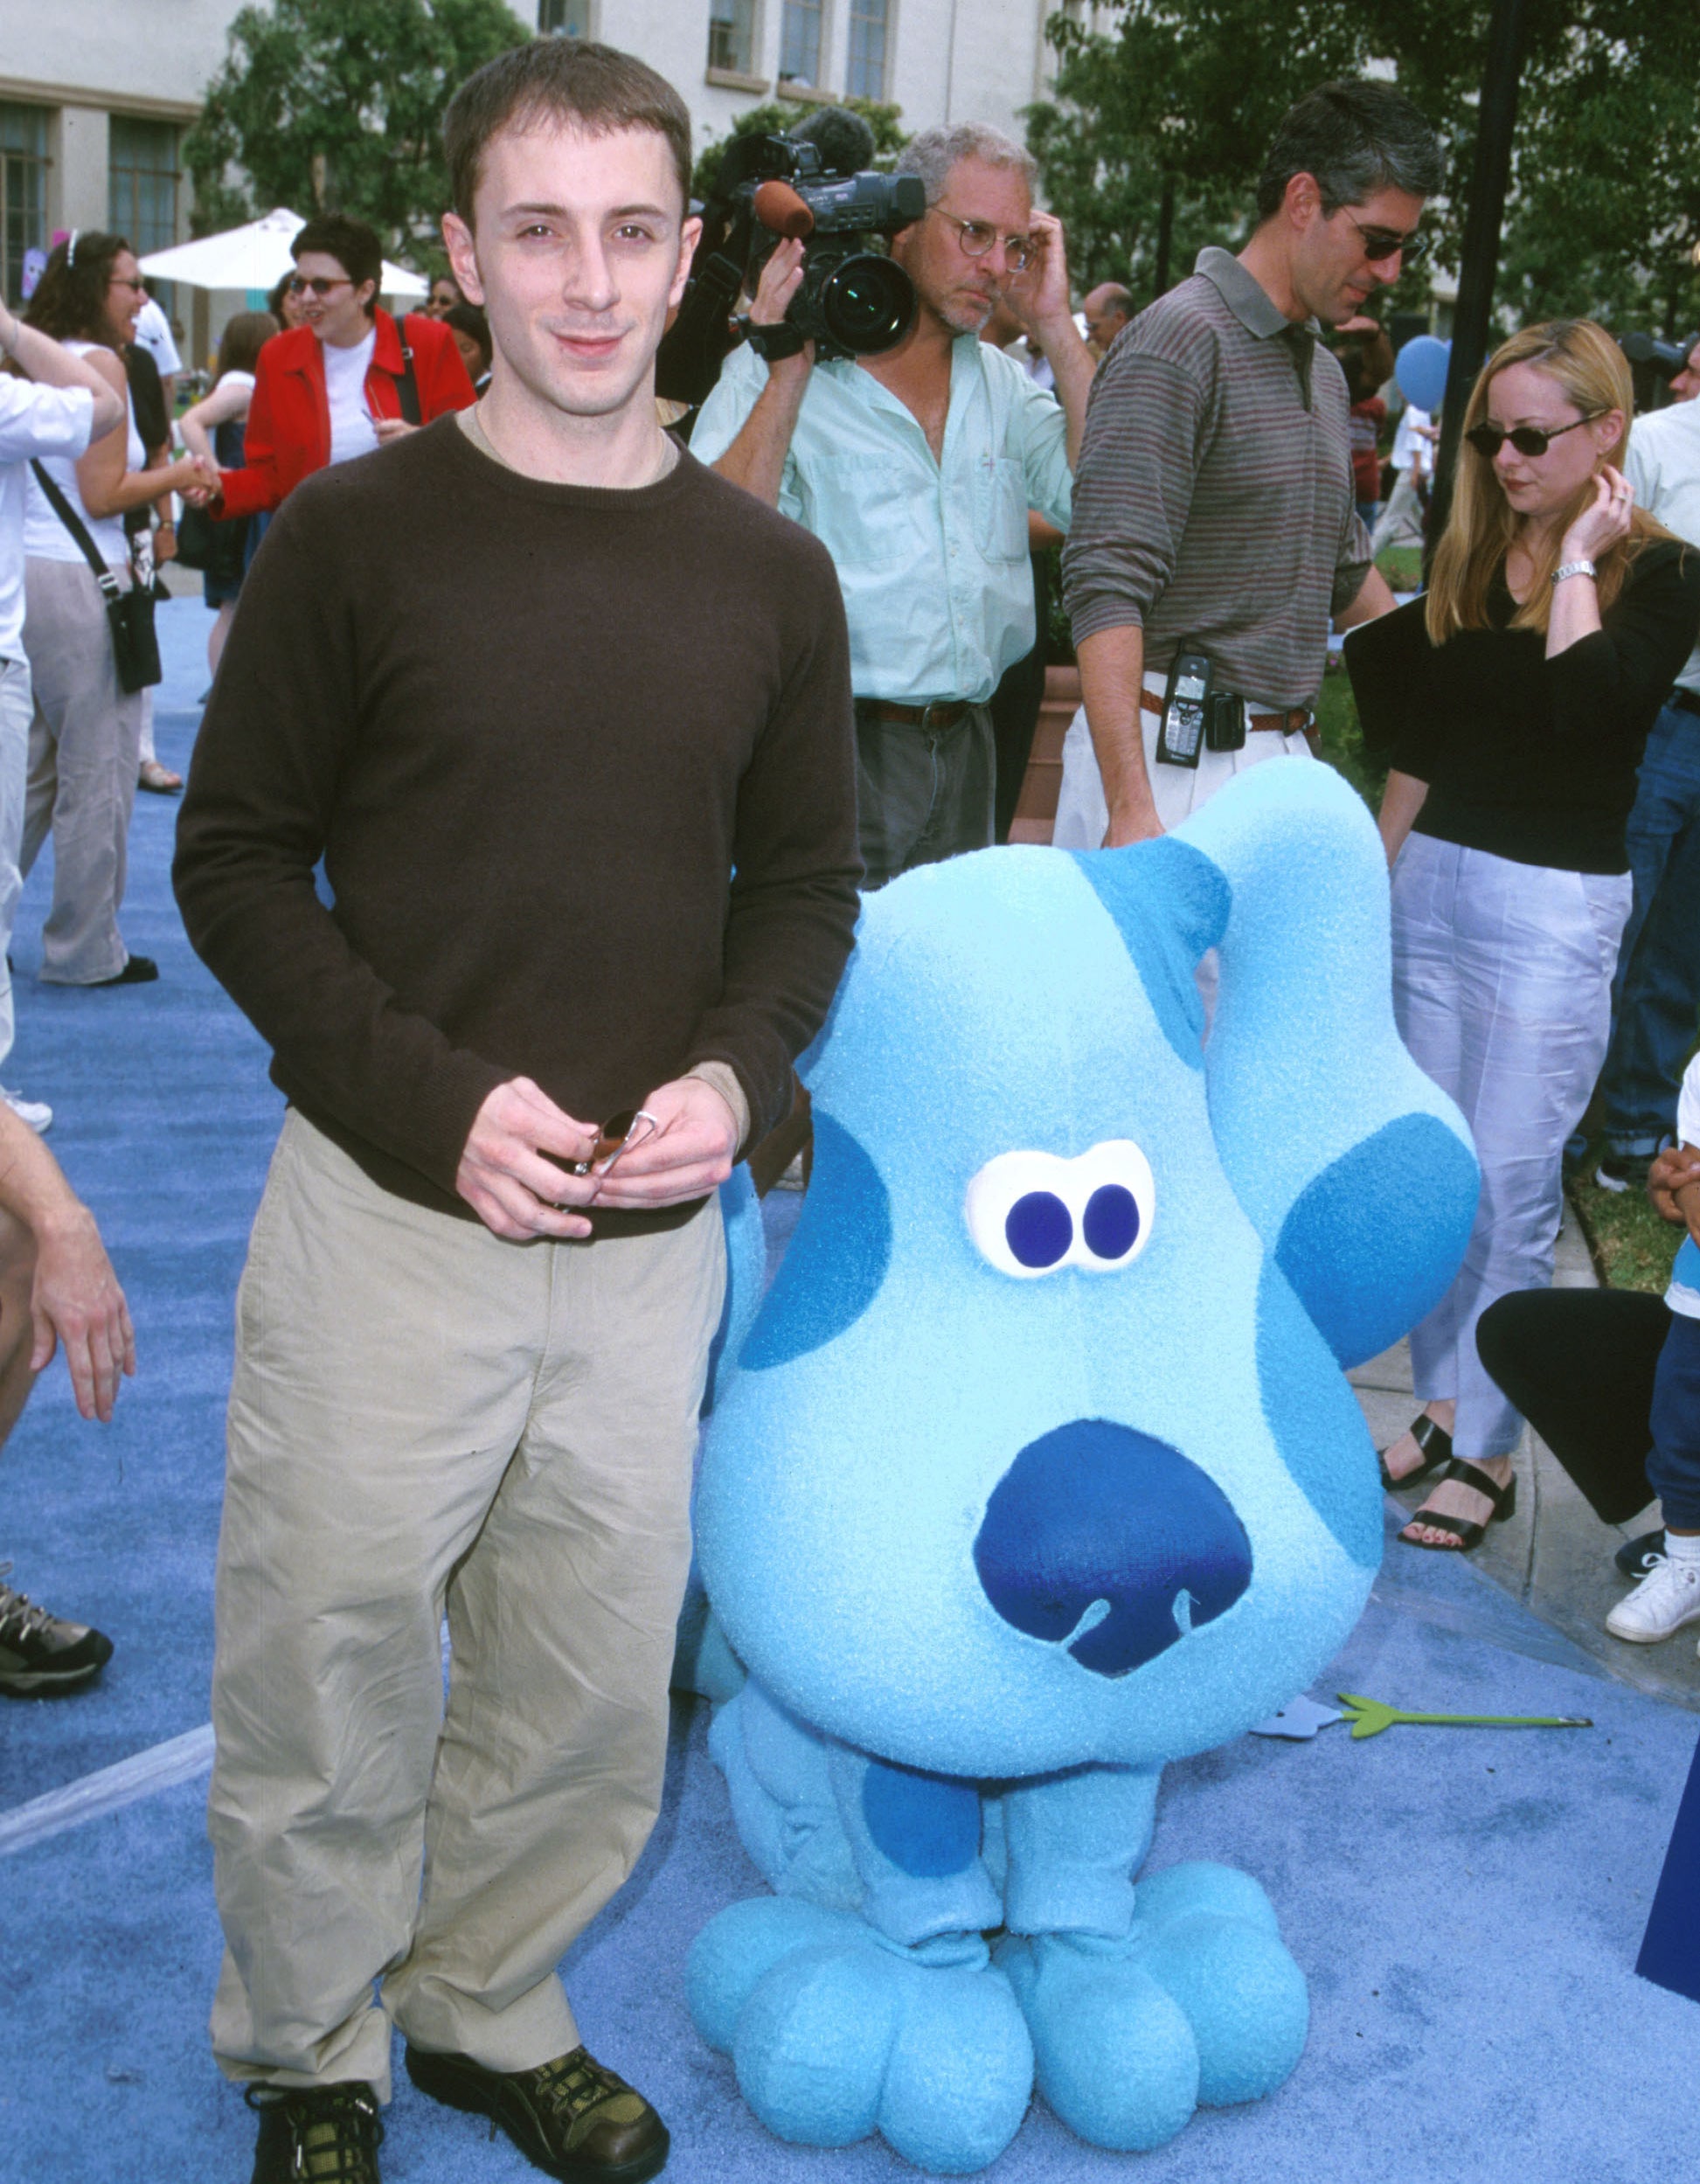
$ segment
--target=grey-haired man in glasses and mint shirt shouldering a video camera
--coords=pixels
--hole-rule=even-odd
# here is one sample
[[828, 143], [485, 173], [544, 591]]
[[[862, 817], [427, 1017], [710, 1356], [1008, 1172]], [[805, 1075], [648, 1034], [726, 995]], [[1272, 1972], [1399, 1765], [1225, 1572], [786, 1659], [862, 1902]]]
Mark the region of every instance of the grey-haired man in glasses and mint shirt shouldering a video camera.
[[[1069, 526], [1093, 358], [1069, 314], [1062, 227], [1034, 162], [972, 122], [898, 157], [926, 214], [892, 238], [911, 332], [881, 356], [763, 365], [736, 349], [690, 452], [824, 542], [850, 618], [857, 815], [867, 887], [992, 841], [990, 699], [1034, 649], [1027, 509]], [[780, 242], [749, 319], [778, 325], [804, 245]], [[999, 297], [1055, 371], [1058, 400], [981, 343]]]

